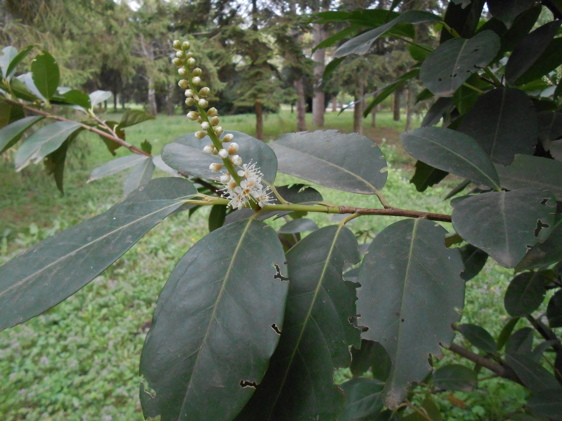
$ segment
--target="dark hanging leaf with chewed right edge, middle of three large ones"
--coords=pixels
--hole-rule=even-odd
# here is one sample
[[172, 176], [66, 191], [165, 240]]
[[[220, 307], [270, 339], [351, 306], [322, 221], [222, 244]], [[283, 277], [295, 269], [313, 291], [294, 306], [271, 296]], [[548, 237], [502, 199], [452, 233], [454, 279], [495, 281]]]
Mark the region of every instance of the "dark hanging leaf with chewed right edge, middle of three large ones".
[[[347, 367], [359, 346], [355, 284], [342, 278], [345, 261], [357, 263], [352, 232], [321, 228], [287, 253], [289, 295], [285, 326], [264, 380], [239, 421], [334, 420], [345, 397], [333, 384], [334, 368]], [[319, 344], [323, 344], [319, 346]]]

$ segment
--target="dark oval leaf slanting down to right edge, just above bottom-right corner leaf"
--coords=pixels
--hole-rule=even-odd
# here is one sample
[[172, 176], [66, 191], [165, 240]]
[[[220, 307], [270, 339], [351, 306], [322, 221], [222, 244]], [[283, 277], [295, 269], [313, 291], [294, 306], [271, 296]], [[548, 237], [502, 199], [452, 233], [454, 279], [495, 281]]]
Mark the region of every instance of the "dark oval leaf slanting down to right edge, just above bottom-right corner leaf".
[[506, 354], [505, 360], [523, 385], [533, 393], [542, 393], [545, 390], [556, 389], [562, 395], [562, 386], [556, 378], [541, 364], [533, 361], [529, 356], [520, 353]]

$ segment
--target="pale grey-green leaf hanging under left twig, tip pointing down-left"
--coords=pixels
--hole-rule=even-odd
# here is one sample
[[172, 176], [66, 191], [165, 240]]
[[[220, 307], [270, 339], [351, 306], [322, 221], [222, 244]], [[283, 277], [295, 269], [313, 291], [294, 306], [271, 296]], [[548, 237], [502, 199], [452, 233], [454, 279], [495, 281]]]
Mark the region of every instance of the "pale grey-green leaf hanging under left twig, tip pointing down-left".
[[57, 121], [35, 131], [17, 150], [16, 171], [28, 166], [31, 161], [36, 164], [41, 162], [49, 153], [55, 152], [80, 127], [80, 123], [75, 121]]

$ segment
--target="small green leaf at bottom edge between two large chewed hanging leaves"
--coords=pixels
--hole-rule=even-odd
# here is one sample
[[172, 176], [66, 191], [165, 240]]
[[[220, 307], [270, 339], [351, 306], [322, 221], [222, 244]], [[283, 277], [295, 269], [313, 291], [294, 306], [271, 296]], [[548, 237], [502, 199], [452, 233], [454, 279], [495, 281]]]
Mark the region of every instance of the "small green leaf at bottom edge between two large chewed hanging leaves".
[[339, 387], [346, 395], [338, 421], [352, 421], [380, 412], [383, 409], [384, 383], [370, 378], [354, 378]]

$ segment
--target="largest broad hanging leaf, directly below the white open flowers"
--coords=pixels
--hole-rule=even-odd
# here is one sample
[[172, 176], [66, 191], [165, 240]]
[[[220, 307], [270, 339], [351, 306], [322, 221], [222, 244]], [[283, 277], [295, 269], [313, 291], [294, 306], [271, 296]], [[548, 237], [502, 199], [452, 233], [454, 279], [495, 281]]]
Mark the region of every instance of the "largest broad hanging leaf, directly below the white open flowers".
[[[145, 415], [228, 421], [261, 382], [283, 328], [288, 282], [273, 228], [223, 226], [180, 260], [160, 293], [140, 358]], [[275, 266], [274, 266], [275, 265]], [[331, 373], [331, 371], [330, 371]]]

